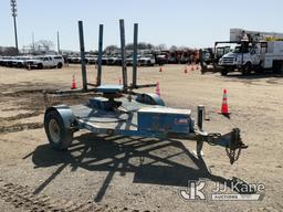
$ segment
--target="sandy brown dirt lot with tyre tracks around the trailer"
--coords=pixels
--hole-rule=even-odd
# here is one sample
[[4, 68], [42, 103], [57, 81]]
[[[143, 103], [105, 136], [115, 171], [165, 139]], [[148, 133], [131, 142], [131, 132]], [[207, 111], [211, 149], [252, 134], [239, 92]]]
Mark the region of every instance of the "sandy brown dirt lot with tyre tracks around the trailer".
[[[119, 67], [104, 67], [106, 83], [117, 84]], [[56, 152], [42, 128], [43, 91], [70, 88], [78, 66], [25, 71], [0, 67], [0, 211], [283, 211], [283, 77], [184, 73], [184, 65], [140, 67], [139, 83], [160, 83], [167, 105], [207, 106], [205, 128], [241, 128], [249, 148], [230, 166], [224, 149], [206, 145], [205, 161], [195, 142], [91, 135], [81, 131], [70, 151]], [[94, 66], [88, 67], [91, 83]], [[218, 115], [228, 89], [228, 119]], [[146, 89], [154, 92], [154, 88]], [[75, 104], [87, 95], [54, 98]], [[264, 183], [262, 201], [185, 201], [188, 180], [208, 188], [232, 179]], [[209, 190], [209, 189], [208, 189]], [[210, 192], [211, 193], [211, 192]]]

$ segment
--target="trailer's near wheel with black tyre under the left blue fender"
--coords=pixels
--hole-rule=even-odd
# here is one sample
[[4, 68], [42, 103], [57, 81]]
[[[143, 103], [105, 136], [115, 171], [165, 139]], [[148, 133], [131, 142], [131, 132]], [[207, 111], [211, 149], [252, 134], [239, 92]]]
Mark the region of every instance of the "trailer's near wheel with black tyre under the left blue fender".
[[73, 132], [64, 126], [63, 119], [56, 110], [50, 110], [44, 118], [44, 128], [51, 147], [65, 150], [73, 141]]

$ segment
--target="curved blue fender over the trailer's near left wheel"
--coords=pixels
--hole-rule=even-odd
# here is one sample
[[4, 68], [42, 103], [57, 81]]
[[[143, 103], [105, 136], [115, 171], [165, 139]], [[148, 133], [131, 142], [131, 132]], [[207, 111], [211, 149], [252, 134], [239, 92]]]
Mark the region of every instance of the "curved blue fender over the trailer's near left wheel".
[[62, 118], [65, 129], [73, 130], [74, 128], [77, 128], [76, 118], [75, 118], [72, 109], [69, 106], [57, 105], [57, 106], [49, 107], [45, 110], [44, 120], [46, 118], [46, 115], [52, 110], [55, 110], [57, 113], [57, 115]]

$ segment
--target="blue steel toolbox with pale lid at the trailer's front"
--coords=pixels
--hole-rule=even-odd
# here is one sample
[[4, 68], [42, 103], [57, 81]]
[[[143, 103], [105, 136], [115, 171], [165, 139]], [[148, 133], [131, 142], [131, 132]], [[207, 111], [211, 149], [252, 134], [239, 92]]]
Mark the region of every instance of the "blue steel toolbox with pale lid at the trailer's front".
[[190, 113], [171, 113], [171, 108], [147, 108], [138, 113], [138, 130], [190, 132]]

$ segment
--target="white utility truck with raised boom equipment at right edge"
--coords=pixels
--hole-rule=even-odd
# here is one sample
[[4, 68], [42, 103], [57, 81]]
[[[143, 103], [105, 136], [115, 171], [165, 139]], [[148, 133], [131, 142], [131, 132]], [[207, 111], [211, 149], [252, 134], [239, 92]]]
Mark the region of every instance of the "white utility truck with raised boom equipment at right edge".
[[283, 34], [231, 29], [228, 43], [234, 49], [218, 62], [222, 75], [233, 71], [283, 73]]

